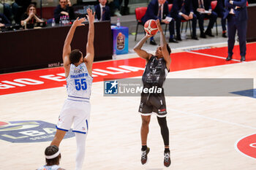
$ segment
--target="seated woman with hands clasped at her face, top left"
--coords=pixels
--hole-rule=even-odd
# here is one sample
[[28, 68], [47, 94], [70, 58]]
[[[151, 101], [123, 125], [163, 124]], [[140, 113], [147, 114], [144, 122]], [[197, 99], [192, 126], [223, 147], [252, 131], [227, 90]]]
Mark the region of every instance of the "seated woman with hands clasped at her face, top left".
[[26, 9], [26, 12], [21, 17], [21, 21], [20, 21], [21, 26], [23, 26], [25, 22], [26, 23], [43, 22], [43, 20], [37, 17], [37, 9], [34, 4], [30, 4], [29, 7]]

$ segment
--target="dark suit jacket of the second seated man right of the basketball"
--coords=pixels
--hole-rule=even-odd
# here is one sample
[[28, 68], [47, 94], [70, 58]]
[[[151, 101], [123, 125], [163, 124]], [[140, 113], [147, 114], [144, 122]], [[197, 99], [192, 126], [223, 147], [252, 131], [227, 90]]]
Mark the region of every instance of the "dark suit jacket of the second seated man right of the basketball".
[[170, 16], [178, 15], [178, 12], [182, 12], [189, 15], [190, 12], [194, 12], [192, 7], [192, 0], [184, 0], [184, 6], [182, 6], [183, 0], [174, 0], [173, 7], [170, 10]]

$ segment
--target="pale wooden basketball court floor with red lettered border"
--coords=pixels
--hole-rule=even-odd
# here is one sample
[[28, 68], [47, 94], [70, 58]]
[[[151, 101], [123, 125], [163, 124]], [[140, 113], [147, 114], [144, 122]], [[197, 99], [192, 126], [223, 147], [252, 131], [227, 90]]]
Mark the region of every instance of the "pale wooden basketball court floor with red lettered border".
[[[225, 44], [226, 45], [226, 44]], [[256, 43], [239, 47], [225, 61], [225, 45], [174, 50], [167, 78], [256, 77]], [[104, 80], [140, 79], [145, 61], [135, 54], [94, 63], [91, 120], [83, 169], [253, 170], [256, 169], [256, 96], [167, 96], [172, 164], [163, 165], [163, 142], [155, 115], [148, 134], [148, 163], [140, 164], [140, 97], [103, 96]], [[0, 169], [37, 169], [55, 134], [67, 96], [63, 68], [0, 75]], [[254, 87], [255, 88], [255, 87]], [[76, 143], [61, 142], [61, 167], [74, 169]]]

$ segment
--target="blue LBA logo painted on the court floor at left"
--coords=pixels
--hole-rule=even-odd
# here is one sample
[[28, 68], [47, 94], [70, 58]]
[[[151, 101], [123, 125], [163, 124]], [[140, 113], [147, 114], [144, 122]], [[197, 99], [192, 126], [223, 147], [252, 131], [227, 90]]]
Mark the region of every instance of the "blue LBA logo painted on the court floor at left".
[[[12, 143], [48, 142], [56, 134], [56, 125], [40, 120], [0, 122], [0, 139]], [[64, 139], [75, 136], [68, 131]]]

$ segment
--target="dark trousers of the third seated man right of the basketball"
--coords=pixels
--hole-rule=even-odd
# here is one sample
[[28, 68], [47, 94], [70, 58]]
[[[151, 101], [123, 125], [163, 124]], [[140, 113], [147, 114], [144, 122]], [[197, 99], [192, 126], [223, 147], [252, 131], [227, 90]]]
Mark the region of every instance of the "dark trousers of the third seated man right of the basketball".
[[203, 29], [203, 20], [205, 18], [208, 18], [210, 20], [209, 24], [208, 24], [208, 27], [207, 27], [207, 29], [209, 30], [209, 29], [214, 27], [214, 23], [217, 20], [217, 13], [216, 12], [211, 12], [211, 15], [208, 15], [208, 14], [200, 14], [199, 12], [197, 12], [197, 19], [198, 19], [198, 24], [199, 24], [201, 34], [204, 31], [204, 29]]

